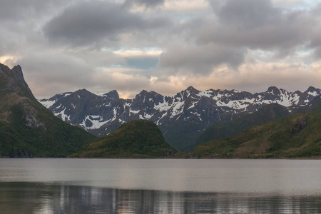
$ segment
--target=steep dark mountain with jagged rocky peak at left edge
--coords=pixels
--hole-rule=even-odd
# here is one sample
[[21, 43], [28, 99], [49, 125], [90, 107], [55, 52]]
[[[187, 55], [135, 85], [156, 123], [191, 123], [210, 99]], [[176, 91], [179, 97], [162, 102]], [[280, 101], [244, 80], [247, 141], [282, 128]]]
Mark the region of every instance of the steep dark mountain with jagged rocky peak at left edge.
[[65, 157], [96, 139], [36, 101], [20, 66], [0, 63], [0, 157]]

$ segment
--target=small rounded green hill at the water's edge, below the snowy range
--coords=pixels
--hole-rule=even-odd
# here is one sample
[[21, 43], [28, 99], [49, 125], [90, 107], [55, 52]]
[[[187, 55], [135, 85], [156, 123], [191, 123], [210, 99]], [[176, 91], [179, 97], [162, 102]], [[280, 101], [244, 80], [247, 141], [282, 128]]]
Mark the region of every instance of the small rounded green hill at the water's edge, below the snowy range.
[[175, 154], [161, 131], [151, 121], [123, 123], [108, 136], [87, 145], [78, 158], [162, 158]]

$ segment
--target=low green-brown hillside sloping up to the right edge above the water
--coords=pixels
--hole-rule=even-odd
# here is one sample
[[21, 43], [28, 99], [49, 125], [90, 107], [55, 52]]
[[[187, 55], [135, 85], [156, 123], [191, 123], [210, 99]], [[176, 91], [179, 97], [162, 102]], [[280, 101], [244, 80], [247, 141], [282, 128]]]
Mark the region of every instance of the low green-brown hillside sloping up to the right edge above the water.
[[321, 158], [321, 114], [295, 114], [195, 148], [198, 158]]

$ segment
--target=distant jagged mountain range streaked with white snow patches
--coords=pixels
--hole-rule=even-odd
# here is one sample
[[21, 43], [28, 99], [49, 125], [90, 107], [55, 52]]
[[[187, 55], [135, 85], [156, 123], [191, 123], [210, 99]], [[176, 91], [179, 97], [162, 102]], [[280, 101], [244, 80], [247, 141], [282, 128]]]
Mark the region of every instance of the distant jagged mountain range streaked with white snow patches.
[[[270, 103], [279, 103], [292, 113], [300, 112], [315, 103], [320, 94], [321, 90], [313, 87], [305, 92], [270, 87], [253, 94], [236, 90], [198, 91], [190, 86], [174, 96], [141, 91], [133, 99], [122, 99], [117, 91], [98, 96], [82, 89], [39, 101], [58, 118], [96, 136], [105, 136], [127, 121], [150, 120], [158, 125], [170, 145], [183, 148], [217, 121], [233, 121]], [[178, 141], [184, 145], [176, 145]]]

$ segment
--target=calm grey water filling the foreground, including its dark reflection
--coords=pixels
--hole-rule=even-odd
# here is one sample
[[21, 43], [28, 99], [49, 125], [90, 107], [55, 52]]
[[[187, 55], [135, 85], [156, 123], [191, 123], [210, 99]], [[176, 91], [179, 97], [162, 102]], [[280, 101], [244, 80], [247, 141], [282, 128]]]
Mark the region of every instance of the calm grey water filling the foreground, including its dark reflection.
[[321, 213], [321, 161], [0, 159], [0, 213]]

